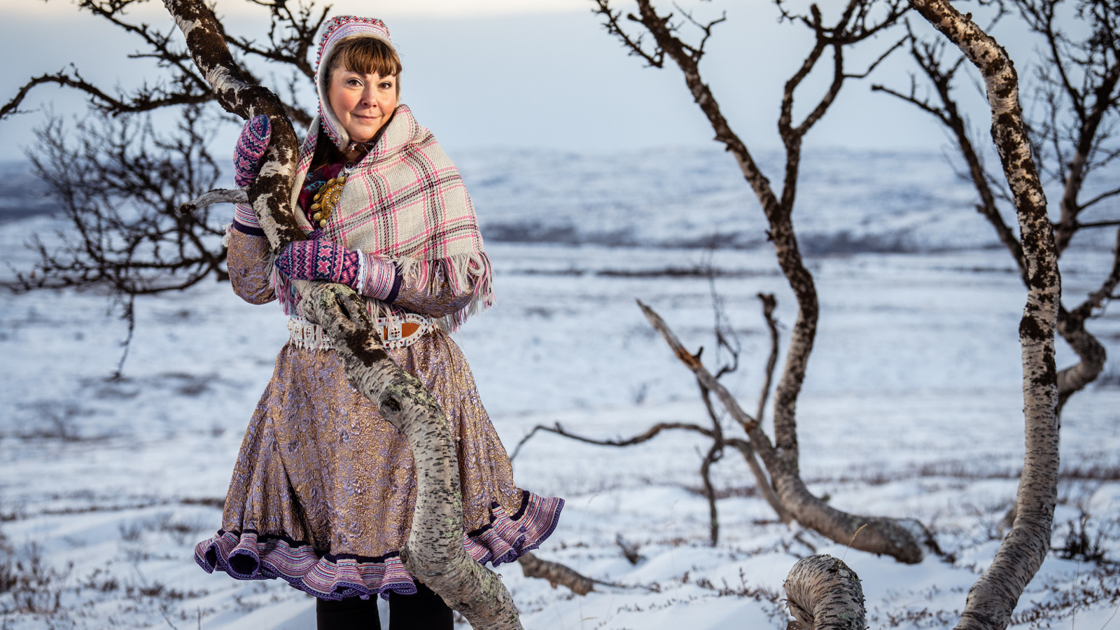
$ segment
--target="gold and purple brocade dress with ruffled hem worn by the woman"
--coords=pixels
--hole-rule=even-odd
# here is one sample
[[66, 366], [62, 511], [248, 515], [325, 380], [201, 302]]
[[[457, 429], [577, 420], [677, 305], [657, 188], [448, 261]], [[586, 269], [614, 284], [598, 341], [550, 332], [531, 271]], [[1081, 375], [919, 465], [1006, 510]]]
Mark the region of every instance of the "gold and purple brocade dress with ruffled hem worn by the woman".
[[[276, 298], [263, 237], [231, 232], [230, 279], [246, 302]], [[395, 307], [440, 317], [469, 296], [435, 294], [403, 279]], [[556, 528], [563, 500], [513, 482], [466, 358], [439, 328], [388, 350], [442, 407], [456, 438], [463, 544], [480, 563], [511, 562]], [[289, 342], [256, 405], [233, 470], [222, 529], [195, 548], [207, 572], [280, 577], [316, 597], [416, 592], [399, 550], [408, 539], [417, 482], [408, 442], [346, 379], [334, 350]]]

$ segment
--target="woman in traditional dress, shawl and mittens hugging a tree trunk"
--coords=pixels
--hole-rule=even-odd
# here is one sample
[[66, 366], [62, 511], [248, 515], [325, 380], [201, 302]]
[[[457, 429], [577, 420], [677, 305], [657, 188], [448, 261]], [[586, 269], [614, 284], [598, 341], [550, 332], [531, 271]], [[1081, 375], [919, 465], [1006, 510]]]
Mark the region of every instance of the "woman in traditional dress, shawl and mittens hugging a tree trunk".
[[[416, 502], [412, 453], [346, 380], [321, 327], [301, 316], [291, 279], [352, 286], [366, 297], [393, 360], [439, 400], [458, 444], [463, 544], [478, 562], [511, 562], [556, 527], [563, 501], [516, 488], [466, 359], [446, 331], [493, 304], [491, 266], [454, 164], [399, 104], [401, 63], [380, 20], [332, 19], [319, 43], [319, 115], [300, 148], [292, 201], [308, 240], [269, 261], [251, 207], [227, 232], [234, 291], [279, 299], [291, 340], [250, 420], [207, 572], [282, 577], [318, 597], [319, 628], [451, 628], [451, 611], [398, 556]], [[245, 126], [239, 185], [256, 176], [268, 119]]]

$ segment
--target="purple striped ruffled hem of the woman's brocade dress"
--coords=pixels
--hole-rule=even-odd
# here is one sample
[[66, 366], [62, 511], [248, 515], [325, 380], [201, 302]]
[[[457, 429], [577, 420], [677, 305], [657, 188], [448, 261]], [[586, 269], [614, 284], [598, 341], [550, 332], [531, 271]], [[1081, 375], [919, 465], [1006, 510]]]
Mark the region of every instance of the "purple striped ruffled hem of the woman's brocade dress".
[[[522, 491], [521, 508], [507, 513], [491, 506], [491, 522], [463, 535], [463, 546], [477, 562], [493, 566], [513, 562], [539, 547], [556, 529], [563, 499]], [[320, 554], [283, 535], [218, 530], [195, 547], [195, 562], [206, 573], [224, 571], [236, 580], [281, 578], [321, 600], [368, 599], [390, 591], [417, 592], [412, 574], [395, 552], [380, 557]]]

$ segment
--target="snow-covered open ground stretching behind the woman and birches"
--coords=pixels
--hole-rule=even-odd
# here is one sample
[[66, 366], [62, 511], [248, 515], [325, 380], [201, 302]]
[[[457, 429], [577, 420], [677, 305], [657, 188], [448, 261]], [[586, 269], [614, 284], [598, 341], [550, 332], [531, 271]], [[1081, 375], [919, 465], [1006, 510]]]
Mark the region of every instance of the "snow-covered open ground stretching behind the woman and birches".
[[[694, 272], [709, 262], [743, 344], [726, 382], [754, 407], [768, 351], [756, 294], [776, 294], [785, 326], [793, 298], [726, 155], [455, 157], [500, 296], [457, 341], [507, 448], [557, 421], [600, 437], [706, 421], [694, 382], [634, 299], [713, 361], [709, 284]], [[1021, 466], [1024, 290], [937, 156], [825, 157], [806, 170], [797, 211], [822, 313], [799, 405], [802, 474], [841, 509], [922, 520], [953, 559], [900, 565], [780, 525], [731, 453], [716, 466], [725, 498], [712, 547], [697, 491], [702, 438], [619, 450], [538, 434], [514, 460], [517, 482], [567, 500], [540, 555], [620, 586], [573, 596], [503, 565], [526, 628], [784, 628], [782, 581], [813, 553], [860, 575], [872, 629], [955, 622], [999, 545]], [[53, 224], [3, 228], [0, 258], [26, 268], [21, 243]], [[709, 252], [712, 234], [734, 247]], [[1067, 302], [1100, 281], [1111, 253], [1099, 242], [1063, 260]], [[304, 593], [207, 575], [192, 559], [220, 525], [241, 435], [284, 342], [279, 308], [216, 282], [141, 299], [125, 378], [109, 381], [124, 328], [106, 304], [95, 291], [0, 299], [3, 628], [314, 628]], [[1120, 352], [1120, 313], [1089, 326]], [[1061, 348], [1060, 363], [1072, 361]], [[1120, 368], [1105, 372], [1065, 409], [1055, 552], [1016, 627], [1120, 628]], [[1103, 564], [1062, 557], [1082, 531]], [[636, 564], [619, 538], [637, 546]]]

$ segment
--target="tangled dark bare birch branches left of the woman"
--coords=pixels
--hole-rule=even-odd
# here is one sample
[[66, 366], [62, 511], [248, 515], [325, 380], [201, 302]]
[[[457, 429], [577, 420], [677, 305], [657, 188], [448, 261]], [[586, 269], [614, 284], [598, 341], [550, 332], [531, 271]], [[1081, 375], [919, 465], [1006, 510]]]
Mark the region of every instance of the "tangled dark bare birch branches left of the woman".
[[[30, 270], [17, 270], [15, 280], [4, 285], [17, 291], [108, 289], [128, 325], [114, 378], [122, 376], [128, 356], [137, 298], [181, 290], [208, 278], [228, 278], [222, 247], [228, 216], [205, 205], [196, 212], [177, 212], [185, 200], [213, 188], [221, 178], [224, 160], [211, 155], [209, 143], [228, 115], [215, 106], [217, 95], [190, 63], [175, 25], [165, 28], [129, 16], [143, 1], [75, 2], [80, 13], [137, 44], [129, 65], [121, 67], [144, 76], [139, 86], [99, 85], [75, 63], [29, 77], [0, 104], [0, 122], [15, 124], [20, 114], [28, 113], [28, 99], [49, 86], [86, 96], [86, 117], [67, 126], [62, 118], [48, 115], [29, 154], [34, 173], [45, 182], [68, 229], [60, 231], [57, 245], [32, 238], [37, 263]], [[268, 64], [267, 74], [281, 77], [280, 85], [287, 89], [281, 106], [305, 128], [312, 110], [300, 103], [298, 86], [312, 83], [309, 54], [329, 8], [316, 8], [314, 2], [293, 8], [284, 0], [254, 3], [267, 16], [268, 36], [250, 39], [223, 27], [223, 39], [235, 50], [234, 63], [246, 83], [263, 84], [249, 70], [250, 61]], [[149, 75], [150, 66], [138, 72], [144, 62], [153, 63], [157, 72]], [[178, 123], [156, 128], [150, 118], [156, 112], [165, 114], [161, 120], [170, 114]]]

